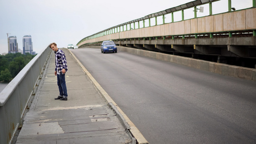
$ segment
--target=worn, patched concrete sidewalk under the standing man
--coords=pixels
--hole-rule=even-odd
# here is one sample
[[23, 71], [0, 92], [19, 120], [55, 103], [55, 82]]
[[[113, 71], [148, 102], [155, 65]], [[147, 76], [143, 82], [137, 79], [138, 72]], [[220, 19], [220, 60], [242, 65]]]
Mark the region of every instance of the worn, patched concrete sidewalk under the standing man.
[[101, 97], [71, 52], [61, 50], [68, 62], [68, 100], [54, 100], [59, 90], [52, 52], [16, 144], [136, 144], [115, 106]]

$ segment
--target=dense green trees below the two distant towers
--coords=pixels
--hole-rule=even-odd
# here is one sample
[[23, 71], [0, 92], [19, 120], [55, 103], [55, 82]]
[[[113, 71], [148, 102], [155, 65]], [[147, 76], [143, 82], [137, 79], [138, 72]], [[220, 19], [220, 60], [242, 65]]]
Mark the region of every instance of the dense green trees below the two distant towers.
[[9, 83], [36, 55], [9, 53], [0, 55], [0, 82]]

